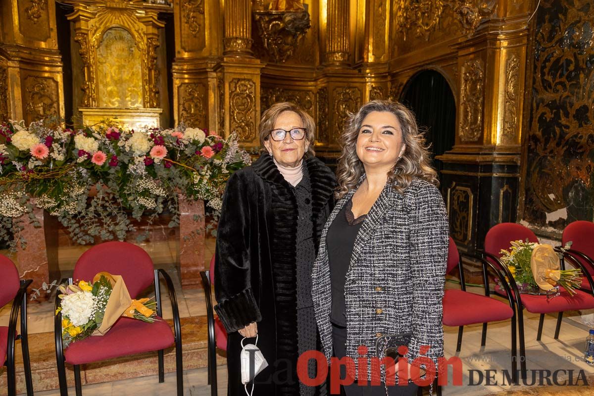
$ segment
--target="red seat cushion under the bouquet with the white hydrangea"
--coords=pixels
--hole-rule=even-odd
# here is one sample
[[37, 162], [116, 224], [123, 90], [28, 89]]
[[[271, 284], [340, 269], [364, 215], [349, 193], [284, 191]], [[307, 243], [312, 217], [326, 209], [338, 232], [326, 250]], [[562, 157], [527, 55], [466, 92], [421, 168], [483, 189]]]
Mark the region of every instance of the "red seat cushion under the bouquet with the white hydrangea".
[[99, 362], [131, 354], [166, 349], [175, 343], [169, 324], [157, 316], [154, 323], [119, 318], [105, 335], [94, 335], [70, 344], [64, 351], [71, 365]]

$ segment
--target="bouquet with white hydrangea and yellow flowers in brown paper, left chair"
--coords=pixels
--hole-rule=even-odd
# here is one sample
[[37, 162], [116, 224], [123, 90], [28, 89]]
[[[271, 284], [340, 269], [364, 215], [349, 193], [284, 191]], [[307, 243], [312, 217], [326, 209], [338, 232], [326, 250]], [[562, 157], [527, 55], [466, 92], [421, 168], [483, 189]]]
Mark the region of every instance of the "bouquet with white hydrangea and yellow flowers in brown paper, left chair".
[[58, 312], [62, 313], [64, 346], [91, 335], [104, 335], [121, 316], [152, 323], [156, 316], [153, 299], [131, 299], [120, 275], [98, 273], [93, 281], [60, 286]]

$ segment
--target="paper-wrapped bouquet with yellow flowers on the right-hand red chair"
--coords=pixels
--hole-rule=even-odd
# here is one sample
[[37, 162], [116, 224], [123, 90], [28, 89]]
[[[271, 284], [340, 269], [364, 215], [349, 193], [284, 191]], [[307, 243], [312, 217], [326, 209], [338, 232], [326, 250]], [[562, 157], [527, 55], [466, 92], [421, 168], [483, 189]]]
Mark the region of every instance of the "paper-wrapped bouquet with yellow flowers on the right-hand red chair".
[[[560, 287], [570, 296], [582, 284], [582, 270], [560, 269], [560, 257], [551, 245], [514, 240], [509, 250], [501, 250], [501, 261], [513, 276], [520, 293], [558, 296]], [[564, 247], [565, 249], [568, 246]], [[563, 249], [562, 249], [563, 250]], [[507, 277], [506, 277], [507, 278]]]

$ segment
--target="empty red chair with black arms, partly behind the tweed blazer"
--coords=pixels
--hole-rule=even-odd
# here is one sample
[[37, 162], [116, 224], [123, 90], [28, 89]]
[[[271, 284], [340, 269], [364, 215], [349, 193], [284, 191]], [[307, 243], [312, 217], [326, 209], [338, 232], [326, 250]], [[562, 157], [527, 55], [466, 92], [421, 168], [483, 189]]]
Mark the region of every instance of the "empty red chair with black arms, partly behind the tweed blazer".
[[[447, 273], [451, 273], [457, 268], [460, 275], [460, 284], [462, 290], [448, 289], [444, 292], [443, 298], [443, 324], [446, 326], [458, 327], [458, 343], [456, 351], [462, 347], [462, 334], [465, 325], [482, 323], [483, 332], [481, 345], [486, 341], [486, 322], [504, 321], [511, 318], [511, 367], [512, 373], [516, 375], [517, 348], [516, 348], [516, 309], [511, 297], [511, 290], [508, 290], [508, 303], [501, 302], [489, 297], [489, 277], [491, 270], [498, 277], [503, 277], [498, 268], [486, 260], [482, 260], [483, 280], [485, 285], [485, 295], [466, 292], [466, 280], [462, 268], [462, 260], [456, 243], [450, 237], [450, 248], [448, 251]], [[507, 285], [504, 285], [507, 286]], [[514, 377], [515, 381], [515, 377]]]

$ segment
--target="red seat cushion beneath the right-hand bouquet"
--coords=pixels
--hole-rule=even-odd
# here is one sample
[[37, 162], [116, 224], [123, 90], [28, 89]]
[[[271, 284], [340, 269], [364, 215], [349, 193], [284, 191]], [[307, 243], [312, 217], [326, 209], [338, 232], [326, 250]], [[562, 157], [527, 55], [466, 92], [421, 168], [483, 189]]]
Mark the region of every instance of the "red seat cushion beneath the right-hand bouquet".
[[575, 311], [594, 308], [594, 296], [581, 290], [576, 290], [576, 295], [573, 297], [563, 291], [559, 296], [548, 300], [546, 296], [522, 294], [522, 304], [528, 312], [532, 313]]

